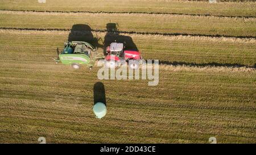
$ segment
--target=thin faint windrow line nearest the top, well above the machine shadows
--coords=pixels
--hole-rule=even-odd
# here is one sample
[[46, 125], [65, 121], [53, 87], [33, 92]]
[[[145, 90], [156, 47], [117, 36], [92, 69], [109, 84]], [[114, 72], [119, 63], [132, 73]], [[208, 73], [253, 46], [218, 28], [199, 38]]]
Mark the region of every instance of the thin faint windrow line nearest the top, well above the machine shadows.
[[135, 12], [135, 11], [42, 11], [42, 10], [14, 10], [14, 9], [0, 9], [0, 11], [20, 11], [20, 12], [47, 12], [47, 13], [88, 13], [88, 14], [148, 14], [148, 15], [185, 15], [185, 16], [212, 16], [218, 18], [256, 18], [256, 16], [225, 16], [225, 15], [210, 15], [210, 14], [181, 14], [181, 13], [167, 13], [167, 12]]

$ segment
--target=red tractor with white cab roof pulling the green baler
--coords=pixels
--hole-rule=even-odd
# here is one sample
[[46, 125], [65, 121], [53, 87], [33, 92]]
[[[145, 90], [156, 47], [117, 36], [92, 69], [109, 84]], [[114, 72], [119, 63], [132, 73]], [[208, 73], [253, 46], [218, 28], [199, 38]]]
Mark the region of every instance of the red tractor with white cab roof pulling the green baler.
[[125, 50], [123, 43], [111, 43], [106, 47], [105, 66], [107, 68], [116, 68], [123, 61], [126, 61], [131, 69], [139, 68], [142, 60], [139, 51]]

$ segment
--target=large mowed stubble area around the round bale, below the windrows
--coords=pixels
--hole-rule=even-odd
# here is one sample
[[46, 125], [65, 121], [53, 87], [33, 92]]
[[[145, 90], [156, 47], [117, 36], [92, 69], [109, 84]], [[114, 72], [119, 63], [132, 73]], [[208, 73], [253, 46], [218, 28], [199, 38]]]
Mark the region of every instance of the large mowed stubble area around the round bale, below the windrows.
[[[100, 81], [98, 68], [49, 60], [65, 40], [52, 34], [1, 32], [1, 143], [255, 143], [255, 71], [160, 68], [158, 86]], [[92, 111], [99, 81], [108, 106], [101, 120]]]

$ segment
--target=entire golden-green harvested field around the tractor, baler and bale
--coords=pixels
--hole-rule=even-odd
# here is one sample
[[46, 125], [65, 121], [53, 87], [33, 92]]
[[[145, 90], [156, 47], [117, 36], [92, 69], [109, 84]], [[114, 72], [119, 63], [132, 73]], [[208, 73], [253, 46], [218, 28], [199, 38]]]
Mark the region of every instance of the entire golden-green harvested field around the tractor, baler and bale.
[[[0, 2], [0, 143], [256, 143], [255, 2], [46, 1]], [[108, 23], [159, 60], [157, 86], [55, 64], [74, 31], [103, 52]], [[102, 119], [92, 110], [96, 82], [106, 91]]]

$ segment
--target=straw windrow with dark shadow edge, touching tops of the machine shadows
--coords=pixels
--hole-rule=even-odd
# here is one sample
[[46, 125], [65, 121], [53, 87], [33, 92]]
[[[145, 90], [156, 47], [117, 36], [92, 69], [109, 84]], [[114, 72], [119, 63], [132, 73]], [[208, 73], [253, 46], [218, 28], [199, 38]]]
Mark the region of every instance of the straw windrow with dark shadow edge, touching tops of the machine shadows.
[[[0, 30], [20, 30], [20, 31], [71, 31], [70, 28], [21, 28], [21, 27], [0, 27]], [[84, 32], [110, 32], [107, 30], [91, 30]], [[127, 33], [129, 35], [161, 35], [161, 36], [199, 36], [199, 37], [226, 37], [237, 39], [256, 39], [256, 36], [228, 36], [228, 35], [202, 35], [189, 33], [160, 33], [160, 32], [136, 32], [136, 31], [111, 31], [113, 33]]]

